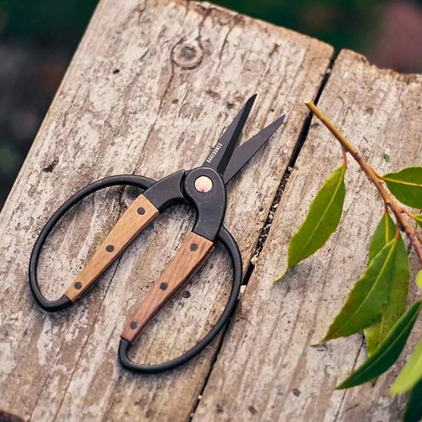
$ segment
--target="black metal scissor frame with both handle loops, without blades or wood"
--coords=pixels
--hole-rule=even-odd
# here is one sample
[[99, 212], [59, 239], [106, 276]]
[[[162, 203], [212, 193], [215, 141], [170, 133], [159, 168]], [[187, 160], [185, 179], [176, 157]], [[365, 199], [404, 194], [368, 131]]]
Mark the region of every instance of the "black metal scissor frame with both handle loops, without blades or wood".
[[[199, 176], [208, 176], [211, 179], [213, 182], [211, 191], [200, 193], [195, 189], [195, 179]], [[120, 340], [119, 360], [124, 368], [138, 373], [167, 371], [192, 359], [192, 357], [203, 350], [213, 340], [232, 315], [241, 287], [242, 258], [233, 236], [224, 226], [222, 226], [226, 208], [226, 188], [222, 177], [216, 170], [204, 167], [196, 168], [189, 172], [180, 170], [157, 182], [142, 176], [111, 176], [89, 184], [87, 187], [76, 192], [76, 194], [71, 196], [51, 216], [35, 242], [29, 265], [30, 287], [38, 305], [45, 311], [60, 311], [73, 304], [65, 295], [62, 295], [62, 297], [57, 300], [48, 300], [41, 293], [37, 279], [37, 267], [41, 249], [51, 233], [51, 230], [53, 230], [57, 222], [59, 222], [70, 208], [88, 195], [91, 195], [100, 189], [119, 185], [143, 189], [143, 195], [148, 198], [159, 211], [163, 211], [165, 208], [168, 208], [175, 203], [187, 203], [190, 206], [194, 206], [196, 210], [196, 221], [192, 231], [213, 242], [218, 239], [229, 252], [232, 261], [233, 284], [225, 310], [216, 322], [216, 325], [214, 325], [210, 332], [192, 347], [192, 349], [168, 362], [144, 365], [135, 363], [129, 359], [127, 352], [132, 344], [123, 338]]]

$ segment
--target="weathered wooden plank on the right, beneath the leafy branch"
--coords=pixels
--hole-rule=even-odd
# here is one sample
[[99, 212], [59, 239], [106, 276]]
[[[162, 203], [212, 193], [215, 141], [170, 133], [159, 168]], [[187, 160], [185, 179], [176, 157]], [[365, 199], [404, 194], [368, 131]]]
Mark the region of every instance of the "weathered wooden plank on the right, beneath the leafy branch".
[[[422, 164], [421, 103], [422, 76], [380, 70], [351, 51], [342, 51], [336, 59], [319, 100], [381, 174]], [[271, 283], [286, 268], [289, 239], [312, 197], [341, 164], [333, 135], [312, 122], [195, 413], [198, 421], [396, 421], [403, 409], [405, 398], [387, 395], [397, 369], [381, 376], [375, 387], [332, 390], [365, 358], [360, 335], [310, 346], [323, 337], [364, 270], [369, 239], [381, 218], [382, 202], [356, 163], [349, 162], [346, 173], [338, 230], [283, 281]], [[419, 324], [419, 334], [420, 329]]]

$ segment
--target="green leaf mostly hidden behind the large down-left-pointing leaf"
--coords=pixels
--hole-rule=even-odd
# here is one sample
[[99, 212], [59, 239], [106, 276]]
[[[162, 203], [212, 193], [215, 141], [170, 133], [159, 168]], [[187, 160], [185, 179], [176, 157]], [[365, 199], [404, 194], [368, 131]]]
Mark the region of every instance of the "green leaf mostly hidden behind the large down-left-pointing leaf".
[[[372, 260], [379, 250], [394, 238], [394, 235], [395, 224], [390, 215], [385, 213], [371, 240], [368, 260]], [[382, 311], [381, 319], [377, 321], [376, 324], [363, 330], [368, 356], [371, 356], [371, 354], [375, 352], [391, 327], [406, 310], [406, 298], [409, 285], [409, 264], [406, 246], [401, 236], [398, 239], [396, 248], [390, 295], [387, 304]]]

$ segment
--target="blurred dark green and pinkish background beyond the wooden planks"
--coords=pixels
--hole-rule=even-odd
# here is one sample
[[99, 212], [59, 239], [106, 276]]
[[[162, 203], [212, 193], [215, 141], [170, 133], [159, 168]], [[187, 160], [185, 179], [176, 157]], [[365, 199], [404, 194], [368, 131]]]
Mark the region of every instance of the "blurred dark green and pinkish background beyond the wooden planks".
[[[0, 209], [97, 0], [0, 0]], [[214, 3], [422, 73], [422, 0]]]

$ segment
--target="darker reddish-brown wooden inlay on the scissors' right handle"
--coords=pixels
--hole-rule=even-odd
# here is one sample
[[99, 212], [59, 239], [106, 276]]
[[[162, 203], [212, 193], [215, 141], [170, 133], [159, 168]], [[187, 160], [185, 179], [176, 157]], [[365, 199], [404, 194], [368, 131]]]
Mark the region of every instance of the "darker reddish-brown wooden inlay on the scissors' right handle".
[[132, 342], [157, 311], [200, 268], [214, 243], [196, 233], [189, 233], [176, 256], [124, 327], [122, 338]]

